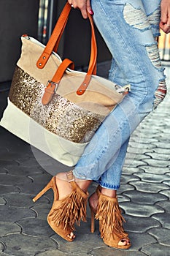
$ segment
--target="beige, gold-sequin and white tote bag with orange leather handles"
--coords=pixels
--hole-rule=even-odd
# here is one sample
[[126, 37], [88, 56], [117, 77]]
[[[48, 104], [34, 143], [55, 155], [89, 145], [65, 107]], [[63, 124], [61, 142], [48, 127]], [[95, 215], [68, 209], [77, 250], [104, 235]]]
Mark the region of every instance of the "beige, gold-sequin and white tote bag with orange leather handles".
[[23, 35], [1, 126], [67, 166], [74, 166], [125, 88], [96, 75], [97, 47], [90, 15], [88, 72], [56, 53], [72, 9], [66, 3], [47, 45]]

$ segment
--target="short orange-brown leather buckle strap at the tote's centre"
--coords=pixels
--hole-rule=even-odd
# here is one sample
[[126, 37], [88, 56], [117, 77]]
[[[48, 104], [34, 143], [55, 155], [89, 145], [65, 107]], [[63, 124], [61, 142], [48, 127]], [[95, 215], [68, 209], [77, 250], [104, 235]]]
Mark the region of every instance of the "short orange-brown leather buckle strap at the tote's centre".
[[58, 86], [58, 83], [60, 83], [61, 78], [63, 78], [63, 73], [66, 71], [67, 67], [74, 69], [74, 63], [69, 59], [64, 59], [58, 67], [57, 71], [55, 72], [52, 80], [48, 81], [47, 87], [45, 89], [45, 94], [42, 97], [43, 105], [47, 105], [52, 99], [55, 89]]

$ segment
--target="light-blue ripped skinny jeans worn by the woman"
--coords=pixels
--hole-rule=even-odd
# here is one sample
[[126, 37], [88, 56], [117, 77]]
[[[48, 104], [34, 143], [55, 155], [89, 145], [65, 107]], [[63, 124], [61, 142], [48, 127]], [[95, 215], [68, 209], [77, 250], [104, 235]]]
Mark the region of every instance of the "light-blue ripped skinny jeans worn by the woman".
[[131, 91], [98, 128], [74, 167], [77, 178], [118, 189], [131, 133], [166, 95], [155, 37], [161, 0], [92, 0], [93, 18], [112, 53], [109, 80]]

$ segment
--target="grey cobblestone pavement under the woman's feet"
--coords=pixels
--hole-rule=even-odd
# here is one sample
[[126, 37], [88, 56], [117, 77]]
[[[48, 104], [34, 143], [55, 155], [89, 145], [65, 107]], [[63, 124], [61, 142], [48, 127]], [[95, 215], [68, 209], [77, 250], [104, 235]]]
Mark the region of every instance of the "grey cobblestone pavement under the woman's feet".
[[[166, 69], [170, 81], [170, 68]], [[106, 246], [88, 222], [69, 243], [47, 225], [53, 194], [32, 198], [58, 164], [0, 127], [0, 256], [168, 256], [170, 255], [170, 100], [169, 94], [131, 137], [118, 191], [132, 246]], [[56, 166], [55, 166], [56, 164]], [[61, 167], [60, 167], [61, 168]], [[63, 168], [64, 169], [64, 168]], [[96, 185], [90, 187], [93, 192]]]

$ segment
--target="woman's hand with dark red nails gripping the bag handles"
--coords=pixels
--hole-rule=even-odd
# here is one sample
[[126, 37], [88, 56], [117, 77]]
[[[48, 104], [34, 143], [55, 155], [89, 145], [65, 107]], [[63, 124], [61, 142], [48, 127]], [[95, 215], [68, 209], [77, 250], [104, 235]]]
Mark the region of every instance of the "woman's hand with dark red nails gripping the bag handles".
[[82, 12], [83, 18], [88, 18], [87, 12], [90, 15], [93, 15], [93, 10], [91, 9], [90, 0], [68, 0], [69, 4], [72, 4], [72, 7], [79, 8]]

